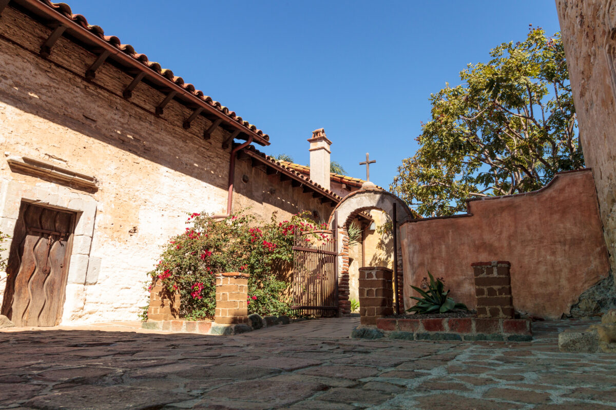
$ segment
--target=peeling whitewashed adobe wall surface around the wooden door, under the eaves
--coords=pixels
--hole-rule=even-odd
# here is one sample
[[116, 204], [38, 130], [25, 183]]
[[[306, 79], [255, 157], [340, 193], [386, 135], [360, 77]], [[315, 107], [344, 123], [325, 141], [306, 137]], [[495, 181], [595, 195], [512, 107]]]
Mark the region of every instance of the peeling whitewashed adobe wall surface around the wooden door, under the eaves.
[[[71, 303], [81, 303], [83, 309], [65, 312], [64, 323], [134, 320], [139, 307], [147, 305], [145, 273], [157, 261], [160, 246], [171, 235], [184, 231], [186, 213], [226, 210], [230, 150], [223, 150], [221, 144], [227, 135], [217, 130], [211, 140], [204, 141], [201, 133], [209, 124], [203, 117], [185, 130], [182, 122], [190, 111], [174, 101], [161, 117], [153, 115], [164, 97], [144, 82], [137, 85], [130, 101], [124, 100], [120, 96], [131, 77], [113, 66], [103, 65], [92, 84], [60, 68], [54, 62], [75, 73], [85, 73], [95, 59], [63, 37], [54, 45], [51, 61], [44, 60], [37, 53], [50, 30], [11, 7], [2, 12], [0, 33], [34, 51], [0, 39], [2, 152], [54, 162], [99, 181], [95, 192], [59, 186], [14, 173], [3, 160], [2, 195], [7, 195], [10, 181], [17, 181], [32, 187], [31, 191], [94, 199], [94, 236], [91, 249], [84, 252], [89, 253], [91, 265], [100, 264], [98, 277], [94, 283], [67, 290], [67, 303], [70, 298], [79, 299]], [[240, 180], [242, 174], [236, 173]], [[256, 176], [253, 181], [262, 184], [265, 179]], [[290, 189], [289, 183], [289, 188], [282, 183], [277, 186], [274, 180], [269, 184], [280, 192]], [[236, 197], [240, 204], [246, 202], [243, 194], [254, 195], [239, 191]], [[262, 198], [251, 202], [252, 212], [267, 220], [277, 207], [282, 208], [278, 217], [288, 218], [291, 212], [315, 206], [308, 194], [293, 201], [286, 206]], [[328, 211], [323, 212], [328, 215]], [[11, 234], [14, 221], [0, 221], [0, 230]], [[134, 227], [137, 232], [129, 232]], [[2, 292], [6, 278], [0, 279]]]

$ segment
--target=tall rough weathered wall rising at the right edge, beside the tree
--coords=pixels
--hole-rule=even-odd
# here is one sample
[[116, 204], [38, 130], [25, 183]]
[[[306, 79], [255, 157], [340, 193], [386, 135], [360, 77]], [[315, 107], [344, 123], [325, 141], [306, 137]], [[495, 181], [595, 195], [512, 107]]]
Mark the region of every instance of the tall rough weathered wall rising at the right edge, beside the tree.
[[556, 0], [587, 167], [616, 272], [616, 2]]

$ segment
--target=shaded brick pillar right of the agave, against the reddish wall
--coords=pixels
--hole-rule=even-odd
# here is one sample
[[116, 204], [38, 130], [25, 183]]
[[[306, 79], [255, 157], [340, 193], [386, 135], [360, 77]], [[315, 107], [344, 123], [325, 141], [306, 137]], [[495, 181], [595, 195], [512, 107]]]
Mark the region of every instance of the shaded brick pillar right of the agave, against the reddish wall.
[[508, 261], [475, 262], [471, 264], [475, 276], [477, 316], [513, 318], [511, 275]]

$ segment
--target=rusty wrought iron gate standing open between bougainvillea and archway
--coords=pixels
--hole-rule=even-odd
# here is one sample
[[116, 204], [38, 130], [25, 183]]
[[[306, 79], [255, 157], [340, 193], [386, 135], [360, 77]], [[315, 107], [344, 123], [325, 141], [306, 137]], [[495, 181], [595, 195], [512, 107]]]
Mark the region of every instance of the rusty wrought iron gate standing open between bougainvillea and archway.
[[338, 216], [334, 231], [305, 235], [296, 229], [291, 309], [315, 316], [338, 315]]

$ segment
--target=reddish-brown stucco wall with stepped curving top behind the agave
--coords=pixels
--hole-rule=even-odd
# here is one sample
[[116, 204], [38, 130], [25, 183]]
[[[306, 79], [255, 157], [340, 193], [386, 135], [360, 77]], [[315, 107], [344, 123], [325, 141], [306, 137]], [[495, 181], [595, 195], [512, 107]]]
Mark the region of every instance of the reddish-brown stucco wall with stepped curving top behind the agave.
[[472, 309], [471, 264], [506, 260], [514, 308], [560, 318], [610, 269], [590, 170], [561, 173], [540, 191], [472, 200], [467, 215], [405, 223], [400, 236], [407, 308], [410, 285], [430, 271]]

